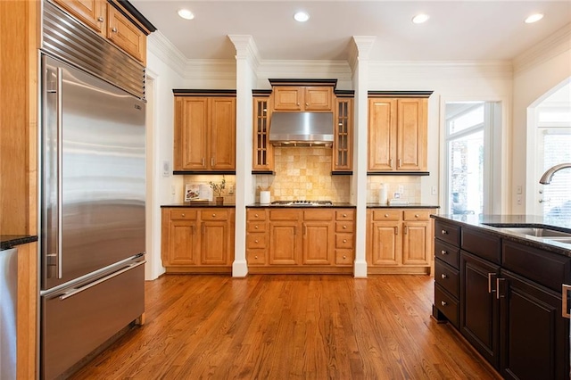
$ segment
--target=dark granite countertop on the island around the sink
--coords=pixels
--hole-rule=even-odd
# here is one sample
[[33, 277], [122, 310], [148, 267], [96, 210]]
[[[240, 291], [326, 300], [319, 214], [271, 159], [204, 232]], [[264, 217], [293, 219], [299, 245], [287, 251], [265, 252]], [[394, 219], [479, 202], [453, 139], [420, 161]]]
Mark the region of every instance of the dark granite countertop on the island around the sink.
[[571, 233], [571, 220], [543, 218], [536, 215], [432, 215], [432, 218], [443, 221], [454, 221], [457, 224], [478, 227], [485, 231], [498, 235], [503, 239], [509, 239], [530, 247], [539, 248], [545, 251], [555, 252], [567, 257], [571, 257], [571, 243], [550, 240], [549, 237], [525, 235], [508, 231], [501, 227], [492, 227], [487, 224], [501, 224], [502, 227], [553, 227], [559, 231]]

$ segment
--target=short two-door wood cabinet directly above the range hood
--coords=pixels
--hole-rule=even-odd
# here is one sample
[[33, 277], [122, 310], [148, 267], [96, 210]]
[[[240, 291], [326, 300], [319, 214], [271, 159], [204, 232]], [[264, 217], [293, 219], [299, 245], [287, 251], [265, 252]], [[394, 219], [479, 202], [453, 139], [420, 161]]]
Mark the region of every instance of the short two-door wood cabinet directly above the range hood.
[[273, 88], [274, 111], [333, 111], [333, 87], [277, 86]]

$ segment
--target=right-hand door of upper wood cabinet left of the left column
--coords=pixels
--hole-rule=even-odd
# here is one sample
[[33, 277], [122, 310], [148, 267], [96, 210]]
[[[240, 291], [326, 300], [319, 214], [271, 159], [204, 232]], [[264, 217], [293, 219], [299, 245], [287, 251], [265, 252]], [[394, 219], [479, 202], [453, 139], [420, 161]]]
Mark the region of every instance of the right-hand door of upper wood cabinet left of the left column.
[[236, 98], [211, 98], [211, 169], [236, 169]]

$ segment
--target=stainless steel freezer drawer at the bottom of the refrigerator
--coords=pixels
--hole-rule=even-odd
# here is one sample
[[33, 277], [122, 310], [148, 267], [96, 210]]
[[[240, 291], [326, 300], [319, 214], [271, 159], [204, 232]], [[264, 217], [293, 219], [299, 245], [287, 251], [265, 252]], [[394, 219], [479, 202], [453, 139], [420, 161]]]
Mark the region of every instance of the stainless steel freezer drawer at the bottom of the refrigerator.
[[144, 263], [42, 298], [42, 378], [61, 375], [143, 314]]

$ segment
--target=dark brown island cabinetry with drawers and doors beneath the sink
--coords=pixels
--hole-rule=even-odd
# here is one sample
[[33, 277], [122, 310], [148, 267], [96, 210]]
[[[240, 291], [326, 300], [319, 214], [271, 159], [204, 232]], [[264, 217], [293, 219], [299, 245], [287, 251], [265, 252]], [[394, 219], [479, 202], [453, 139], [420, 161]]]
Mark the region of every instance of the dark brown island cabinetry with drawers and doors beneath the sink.
[[448, 319], [505, 378], [568, 379], [561, 286], [571, 258], [478, 227], [436, 220], [434, 231], [434, 317]]

